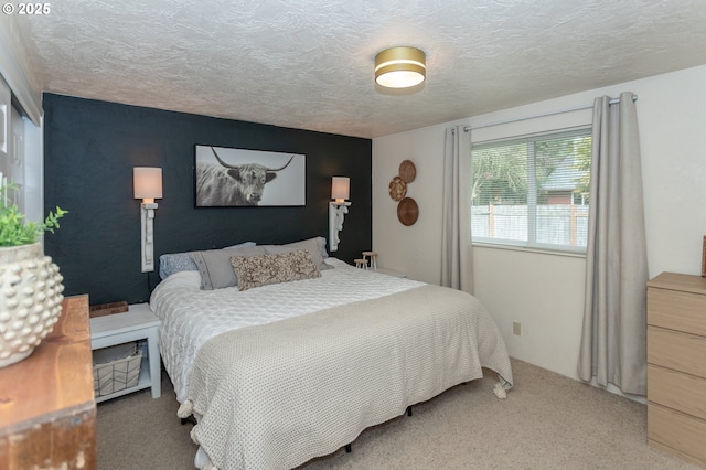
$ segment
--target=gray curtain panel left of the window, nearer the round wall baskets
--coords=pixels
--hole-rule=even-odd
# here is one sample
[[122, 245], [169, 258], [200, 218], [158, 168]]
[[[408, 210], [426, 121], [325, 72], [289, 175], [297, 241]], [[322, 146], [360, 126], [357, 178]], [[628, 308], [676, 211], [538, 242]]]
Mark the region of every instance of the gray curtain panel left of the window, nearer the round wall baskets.
[[473, 293], [471, 145], [463, 126], [446, 129], [441, 209], [441, 286]]

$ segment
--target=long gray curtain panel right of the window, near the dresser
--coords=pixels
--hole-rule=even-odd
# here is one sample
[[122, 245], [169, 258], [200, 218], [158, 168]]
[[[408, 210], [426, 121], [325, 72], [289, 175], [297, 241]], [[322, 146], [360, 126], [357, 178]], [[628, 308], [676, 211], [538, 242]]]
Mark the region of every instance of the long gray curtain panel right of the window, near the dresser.
[[593, 104], [586, 299], [578, 375], [646, 393], [648, 256], [633, 94]]

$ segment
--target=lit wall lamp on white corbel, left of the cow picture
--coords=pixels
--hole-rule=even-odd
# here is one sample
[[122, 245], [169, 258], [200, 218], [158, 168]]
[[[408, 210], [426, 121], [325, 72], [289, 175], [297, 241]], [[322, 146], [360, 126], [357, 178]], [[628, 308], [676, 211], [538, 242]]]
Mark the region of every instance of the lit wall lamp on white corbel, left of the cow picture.
[[142, 273], [154, 270], [154, 210], [156, 199], [162, 199], [162, 169], [135, 167], [132, 170], [135, 199], [141, 199], [141, 259]]

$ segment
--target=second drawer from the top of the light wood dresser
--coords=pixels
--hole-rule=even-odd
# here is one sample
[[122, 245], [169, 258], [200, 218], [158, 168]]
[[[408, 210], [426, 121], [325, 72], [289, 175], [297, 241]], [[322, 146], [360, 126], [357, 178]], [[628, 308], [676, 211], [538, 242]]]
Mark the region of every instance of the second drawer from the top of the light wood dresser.
[[706, 378], [706, 339], [648, 327], [648, 362]]

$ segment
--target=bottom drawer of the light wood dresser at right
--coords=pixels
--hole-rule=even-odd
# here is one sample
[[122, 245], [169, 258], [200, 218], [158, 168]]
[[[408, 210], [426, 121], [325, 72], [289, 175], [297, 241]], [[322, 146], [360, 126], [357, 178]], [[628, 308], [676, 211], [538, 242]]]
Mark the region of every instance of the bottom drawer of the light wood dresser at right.
[[674, 449], [683, 458], [706, 466], [706, 421], [648, 404], [648, 439]]

